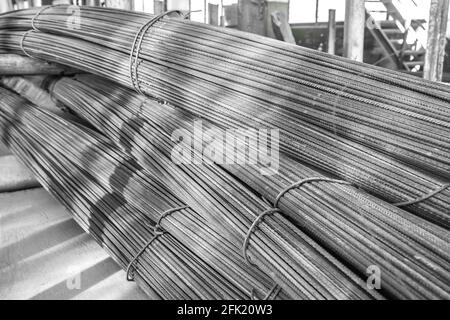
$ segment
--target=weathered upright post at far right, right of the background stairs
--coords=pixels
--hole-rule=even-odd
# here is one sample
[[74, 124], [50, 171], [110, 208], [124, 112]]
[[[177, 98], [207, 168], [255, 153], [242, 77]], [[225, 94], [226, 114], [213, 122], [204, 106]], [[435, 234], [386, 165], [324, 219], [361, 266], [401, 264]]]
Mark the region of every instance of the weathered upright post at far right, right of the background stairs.
[[450, 0], [431, 0], [423, 77], [442, 81]]

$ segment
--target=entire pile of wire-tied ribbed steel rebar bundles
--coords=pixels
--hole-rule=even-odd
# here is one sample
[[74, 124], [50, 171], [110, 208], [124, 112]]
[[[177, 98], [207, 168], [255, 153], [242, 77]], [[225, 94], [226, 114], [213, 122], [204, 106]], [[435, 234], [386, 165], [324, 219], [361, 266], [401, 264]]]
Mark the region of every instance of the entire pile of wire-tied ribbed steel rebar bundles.
[[73, 10], [0, 16], [1, 53], [86, 72], [43, 82], [70, 116], [3, 79], [1, 141], [151, 298], [450, 298], [450, 87]]

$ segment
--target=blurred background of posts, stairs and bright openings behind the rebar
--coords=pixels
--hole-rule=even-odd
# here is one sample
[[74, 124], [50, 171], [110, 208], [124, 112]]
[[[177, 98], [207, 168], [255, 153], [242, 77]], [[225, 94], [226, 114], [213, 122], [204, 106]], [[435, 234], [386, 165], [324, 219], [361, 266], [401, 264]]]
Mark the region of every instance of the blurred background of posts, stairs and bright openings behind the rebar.
[[450, 81], [448, 0], [4, 0], [0, 11], [50, 4], [190, 11], [192, 21]]

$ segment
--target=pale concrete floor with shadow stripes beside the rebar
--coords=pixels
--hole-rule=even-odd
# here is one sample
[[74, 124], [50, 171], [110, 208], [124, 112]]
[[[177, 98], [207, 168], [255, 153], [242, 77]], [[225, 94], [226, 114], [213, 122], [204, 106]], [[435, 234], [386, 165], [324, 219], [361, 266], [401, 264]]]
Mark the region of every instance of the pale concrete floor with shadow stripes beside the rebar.
[[0, 194], [0, 299], [146, 299], [44, 189]]

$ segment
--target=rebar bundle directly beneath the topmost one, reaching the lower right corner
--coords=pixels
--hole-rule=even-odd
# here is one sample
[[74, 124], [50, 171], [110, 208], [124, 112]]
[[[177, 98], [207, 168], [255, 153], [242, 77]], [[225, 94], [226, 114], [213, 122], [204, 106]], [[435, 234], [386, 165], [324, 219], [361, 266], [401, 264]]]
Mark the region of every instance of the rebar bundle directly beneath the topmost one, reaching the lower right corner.
[[[135, 155], [144, 167], [158, 170], [168, 185], [176, 185], [170, 178], [175, 170], [170, 159], [155, 154], [170, 154], [174, 148], [172, 133], [177, 129], [192, 132], [195, 117], [96, 77], [61, 79], [51, 86], [51, 93]], [[244, 149], [239, 150], [245, 153]], [[332, 181], [283, 155], [279, 172], [274, 176], [262, 176], [254, 166], [221, 166], [271, 201], [274, 207], [281, 208], [301, 230], [361, 276], [371, 265], [379, 266], [383, 290], [388, 295], [418, 298], [446, 296], [450, 292], [447, 285], [449, 237], [440, 227], [352, 186]], [[201, 178], [205, 165], [184, 168]], [[323, 179], [289, 188], [311, 177]], [[288, 192], [279, 197], [286, 188]]]

